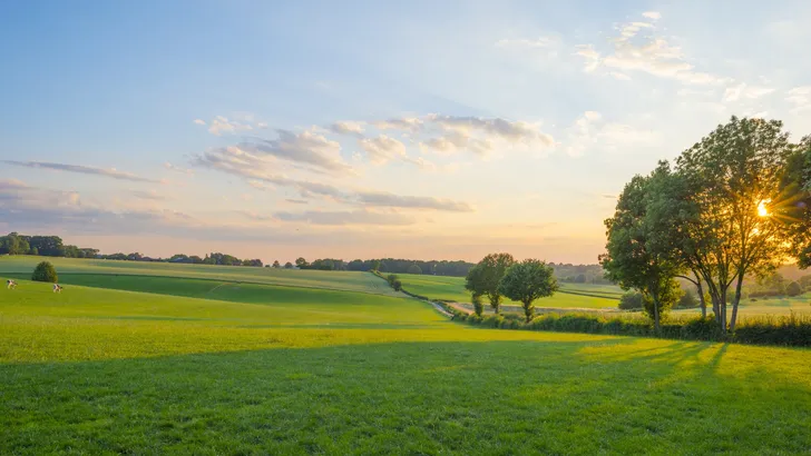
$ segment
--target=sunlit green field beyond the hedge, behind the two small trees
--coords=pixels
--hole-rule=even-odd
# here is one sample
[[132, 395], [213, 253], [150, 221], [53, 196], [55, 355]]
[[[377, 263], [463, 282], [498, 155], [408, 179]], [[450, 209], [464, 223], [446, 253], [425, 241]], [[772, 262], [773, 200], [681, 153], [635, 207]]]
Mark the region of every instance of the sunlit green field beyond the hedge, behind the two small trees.
[[[470, 303], [470, 291], [465, 289], [463, 277], [398, 274], [402, 287], [414, 295], [437, 300]], [[563, 284], [560, 291], [549, 298], [538, 299], [537, 307], [554, 308], [616, 308], [622, 295], [619, 287], [610, 285]], [[505, 304], [510, 305], [507, 300]], [[519, 305], [518, 303], [514, 303]]]

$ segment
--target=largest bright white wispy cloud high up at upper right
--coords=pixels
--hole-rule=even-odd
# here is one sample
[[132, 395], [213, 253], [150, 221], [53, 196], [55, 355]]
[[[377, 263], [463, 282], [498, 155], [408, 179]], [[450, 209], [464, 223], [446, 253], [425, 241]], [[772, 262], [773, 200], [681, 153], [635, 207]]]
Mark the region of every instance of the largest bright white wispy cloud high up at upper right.
[[[658, 13], [645, 13], [648, 19], [658, 19]], [[639, 71], [659, 78], [677, 80], [687, 85], [721, 85], [730, 82], [730, 78], [707, 72], [695, 71], [695, 67], [686, 61], [678, 47], [672, 46], [663, 38], [647, 38], [636, 43], [635, 38], [644, 30], [653, 31], [651, 22], [628, 22], [618, 27], [619, 36], [612, 40], [613, 50], [602, 56], [592, 44], [580, 44], [575, 51], [584, 59], [584, 70], [595, 71], [600, 66], [613, 70]]]

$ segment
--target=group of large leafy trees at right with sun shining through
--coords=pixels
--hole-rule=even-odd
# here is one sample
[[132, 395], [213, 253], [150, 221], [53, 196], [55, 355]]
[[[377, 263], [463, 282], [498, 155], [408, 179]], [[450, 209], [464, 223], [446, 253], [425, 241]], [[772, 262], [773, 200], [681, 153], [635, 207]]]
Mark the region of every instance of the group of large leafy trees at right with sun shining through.
[[[656, 330], [687, 280], [706, 316], [734, 331], [748, 277], [811, 265], [811, 137], [780, 121], [739, 119], [702, 138], [672, 167], [635, 176], [605, 221], [607, 278], [649, 301]], [[727, 321], [727, 306], [732, 313]]]

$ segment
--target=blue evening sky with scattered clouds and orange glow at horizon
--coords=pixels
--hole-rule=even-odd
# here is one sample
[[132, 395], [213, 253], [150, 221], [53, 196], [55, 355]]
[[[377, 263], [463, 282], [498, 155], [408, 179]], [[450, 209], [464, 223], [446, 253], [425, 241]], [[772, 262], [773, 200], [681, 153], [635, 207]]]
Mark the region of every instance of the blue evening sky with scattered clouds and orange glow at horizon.
[[805, 1], [0, 3], [0, 231], [594, 264], [731, 116], [811, 133]]

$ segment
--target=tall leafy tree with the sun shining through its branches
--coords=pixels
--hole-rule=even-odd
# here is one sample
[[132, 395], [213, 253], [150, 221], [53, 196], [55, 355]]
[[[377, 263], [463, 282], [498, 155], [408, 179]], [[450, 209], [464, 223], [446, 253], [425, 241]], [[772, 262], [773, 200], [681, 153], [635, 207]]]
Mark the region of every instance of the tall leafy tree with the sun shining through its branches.
[[723, 331], [735, 329], [744, 278], [773, 271], [792, 252], [802, 195], [786, 172], [798, 148], [778, 120], [732, 117], [677, 159], [690, 210], [668, 225], [685, 227], [676, 237], [682, 258], [706, 285]]

